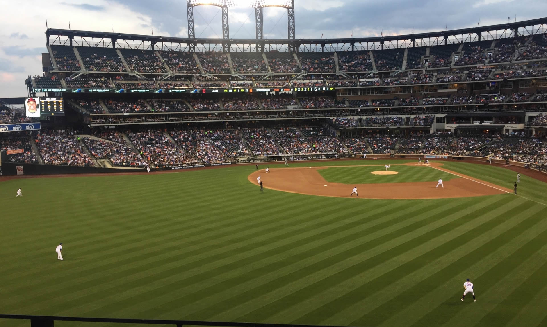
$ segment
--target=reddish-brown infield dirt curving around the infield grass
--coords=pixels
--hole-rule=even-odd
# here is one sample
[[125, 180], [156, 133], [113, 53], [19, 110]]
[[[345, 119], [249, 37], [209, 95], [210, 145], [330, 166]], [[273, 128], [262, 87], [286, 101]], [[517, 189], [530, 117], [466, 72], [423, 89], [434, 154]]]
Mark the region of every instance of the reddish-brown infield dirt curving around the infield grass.
[[[415, 164], [404, 164], [414, 166]], [[344, 167], [363, 167], [379, 165], [356, 165]], [[399, 165], [392, 165], [399, 166]], [[326, 167], [298, 167], [298, 168], [270, 168], [269, 173], [264, 170], [255, 171], [247, 179], [258, 186], [257, 177], [261, 175], [263, 186], [266, 189], [331, 197], [350, 197], [352, 189], [357, 187], [358, 198], [374, 199], [405, 199], [416, 200], [422, 198], [457, 198], [484, 196], [494, 194], [508, 194], [513, 191], [496, 184], [484, 182], [476, 178], [465, 176], [456, 172], [441, 168], [443, 164], [431, 163], [428, 166], [458, 176], [444, 182], [444, 188], [435, 188], [437, 182], [413, 182], [413, 183], [384, 183], [384, 184], [342, 184], [327, 182], [319, 170]], [[394, 167], [395, 168], [395, 167]], [[395, 168], [396, 169], [396, 168]], [[386, 173], [385, 171], [379, 171]], [[390, 173], [390, 172], [388, 172]], [[396, 173], [396, 172], [395, 172]], [[327, 187], [324, 187], [327, 185]], [[357, 197], [356, 197], [357, 198]]]

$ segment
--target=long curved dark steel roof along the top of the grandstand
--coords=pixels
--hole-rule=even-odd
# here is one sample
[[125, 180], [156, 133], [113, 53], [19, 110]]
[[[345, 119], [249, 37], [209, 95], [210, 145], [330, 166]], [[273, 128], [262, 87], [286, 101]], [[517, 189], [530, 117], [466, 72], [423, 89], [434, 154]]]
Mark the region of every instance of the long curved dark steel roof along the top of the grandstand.
[[89, 38], [106, 38], [112, 40], [138, 40], [138, 41], [147, 41], [152, 43], [197, 43], [197, 44], [220, 44], [220, 43], [229, 43], [229, 44], [254, 44], [257, 42], [264, 44], [327, 44], [327, 43], [368, 43], [368, 42], [386, 42], [394, 40], [405, 40], [405, 39], [423, 39], [423, 38], [435, 38], [443, 37], [447, 38], [449, 36], [457, 36], [462, 34], [477, 34], [481, 32], [488, 31], [499, 31], [499, 30], [516, 30], [517, 28], [523, 28], [528, 26], [542, 25], [547, 24], [547, 17], [542, 17], [538, 19], [531, 19], [519, 22], [511, 22], [506, 24], [490, 25], [490, 26], [478, 26], [472, 28], [461, 28], [458, 30], [450, 31], [439, 31], [439, 32], [427, 32], [427, 33], [416, 33], [416, 34], [405, 34], [397, 36], [381, 36], [381, 37], [368, 37], [368, 38], [335, 38], [335, 39], [218, 39], [218, 38], [207, 38], [207, 39], [190, 39], [190, 38], [177, 38], [177, 37], [162, 37], [162, 36], [151, 36], [151, 35], [142, 35], [142, 34], [126, 34], [126, 33], [111, 33], [111, 32], [92, 32], [92, 31], [77, 31], [77, 30], [63, 30], [57, 28], [48, 28], [45, 34], [49, 36], [67, 36], [71, 37], [89, 37]]

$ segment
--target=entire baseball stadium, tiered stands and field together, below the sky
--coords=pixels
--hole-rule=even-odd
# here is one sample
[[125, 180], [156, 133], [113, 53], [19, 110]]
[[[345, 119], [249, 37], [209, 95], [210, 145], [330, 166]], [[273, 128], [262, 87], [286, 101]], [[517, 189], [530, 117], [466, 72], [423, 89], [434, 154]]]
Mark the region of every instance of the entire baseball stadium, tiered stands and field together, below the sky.
[[224, 0], [46, 28], [0, 99], [0, 326], [547, 325], [547, 17], [299, 39], [251, 3], [255, 38]]

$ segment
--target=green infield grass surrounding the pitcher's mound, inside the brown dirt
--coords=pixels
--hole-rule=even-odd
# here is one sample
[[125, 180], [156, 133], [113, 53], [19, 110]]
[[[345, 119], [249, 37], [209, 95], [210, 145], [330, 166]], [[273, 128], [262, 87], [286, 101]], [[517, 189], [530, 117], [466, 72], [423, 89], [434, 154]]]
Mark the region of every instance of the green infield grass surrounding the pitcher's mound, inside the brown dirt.
[[427, 166], [391, 166], [389, 171], [394, 175], [375, 175], [372, 172], [384, 171], [383, 166], [373, 167], [332, 167], [319, 170], [327, 182], [342, 184], [377, 184], [377, 183], [410, 183], [432, 182], [443, 179], [446, 182], [457, 176]]

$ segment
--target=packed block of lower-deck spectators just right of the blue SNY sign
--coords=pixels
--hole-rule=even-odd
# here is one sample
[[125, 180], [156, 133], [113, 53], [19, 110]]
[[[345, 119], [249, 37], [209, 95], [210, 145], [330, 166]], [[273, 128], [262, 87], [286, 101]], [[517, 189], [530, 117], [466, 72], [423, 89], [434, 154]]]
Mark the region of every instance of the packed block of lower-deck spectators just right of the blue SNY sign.
[[42, 130], [37, 135], [37, 145], [46, 165], [94, 165], [94, 161], [80, 147], [73, 131]]

